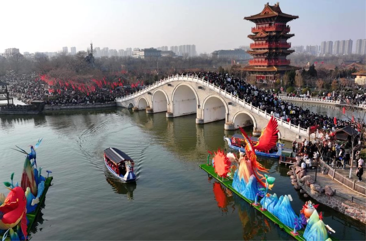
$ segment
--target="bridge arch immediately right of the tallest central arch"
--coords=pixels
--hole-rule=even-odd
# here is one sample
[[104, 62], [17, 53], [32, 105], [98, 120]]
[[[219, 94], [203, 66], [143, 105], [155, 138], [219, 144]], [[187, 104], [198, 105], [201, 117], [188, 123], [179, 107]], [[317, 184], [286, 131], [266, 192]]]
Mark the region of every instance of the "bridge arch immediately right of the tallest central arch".
[[217, 94], [211, 94], [203, 100], [203, 123], [225, 119], [229, 113], [226, 101]]

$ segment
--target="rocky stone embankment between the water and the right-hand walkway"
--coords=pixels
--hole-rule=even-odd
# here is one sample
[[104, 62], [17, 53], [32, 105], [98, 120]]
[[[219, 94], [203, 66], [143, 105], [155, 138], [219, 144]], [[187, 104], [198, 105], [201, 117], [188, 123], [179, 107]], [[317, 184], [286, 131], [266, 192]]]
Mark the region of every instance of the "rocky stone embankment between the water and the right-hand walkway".
[[[366, 207], [364, 205], [336, 196], [335, 191], [330, 186], [321, 187], [316, 184], [312, 177], [300, 167], [300, 162], [295, 162], [294, 165], [290, 166], [290, 171], [287, 174], [290, 175], [291, 184], [304, 197], [310, 196], [319, 203], [366, 223]], [[320, 173], [320, 175], [322, 174]]]

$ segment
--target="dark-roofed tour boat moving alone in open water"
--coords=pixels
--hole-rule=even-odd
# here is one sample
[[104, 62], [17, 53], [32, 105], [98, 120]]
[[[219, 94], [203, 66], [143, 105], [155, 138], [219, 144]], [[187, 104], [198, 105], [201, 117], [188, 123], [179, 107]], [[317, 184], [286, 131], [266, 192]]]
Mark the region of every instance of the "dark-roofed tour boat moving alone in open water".
[[134, 182], [134, 160], [123, 151], [109, 147], [104, 150], [104, 163], [108, 171], [123, 182]]

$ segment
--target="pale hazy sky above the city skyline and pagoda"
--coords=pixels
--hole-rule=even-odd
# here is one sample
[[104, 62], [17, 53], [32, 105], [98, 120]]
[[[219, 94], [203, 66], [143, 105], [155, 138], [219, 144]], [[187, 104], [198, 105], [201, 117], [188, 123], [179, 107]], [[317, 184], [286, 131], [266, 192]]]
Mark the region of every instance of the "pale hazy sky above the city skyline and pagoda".
[[[248, 45], [261, 0], [1, 0], [0, 52], [195, 44], [198, 53]], [[277, 1], [270, 1], [271, 5]], [[281, 0], [292, 45], [366, 38], [366, 0]], [[355, 47], [354, 47], [355, 48]]]

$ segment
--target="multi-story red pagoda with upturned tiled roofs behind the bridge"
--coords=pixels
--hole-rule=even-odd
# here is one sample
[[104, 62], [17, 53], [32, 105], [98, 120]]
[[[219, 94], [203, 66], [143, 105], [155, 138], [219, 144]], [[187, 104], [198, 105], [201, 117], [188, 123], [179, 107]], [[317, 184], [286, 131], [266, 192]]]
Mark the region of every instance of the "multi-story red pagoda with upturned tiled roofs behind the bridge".
[[274, 80], [276, 74], [284, 74], [285, 71], [298, 69], [290, 66], [290, 60], [286, 59], [294, 50], [287, 40], [295, 34], [290, 33], [290, 26], [287, 22], [299, 18], [289, 14], [284, 14], [280, 9], [280, 4], [271, 6], [264, 5], [261, 13], [245, 17], [244, 19], [255, 23], [252, 27], [252, 34], [248, 35], [254, 43], [250, 44], [247, 51], [254, 59], [249, 60], [249, 66], [243, 68], [248, 71], [248, 75], [254, 75], [257, 80]]

